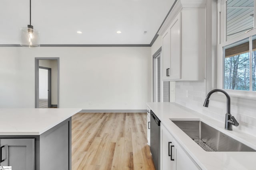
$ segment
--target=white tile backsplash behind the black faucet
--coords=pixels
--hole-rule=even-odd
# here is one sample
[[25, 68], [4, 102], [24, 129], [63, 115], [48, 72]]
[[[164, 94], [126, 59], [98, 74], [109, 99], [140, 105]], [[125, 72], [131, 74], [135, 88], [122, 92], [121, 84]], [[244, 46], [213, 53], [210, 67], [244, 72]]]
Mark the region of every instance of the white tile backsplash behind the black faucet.
[[[188, 97], [186, 97], [187, 90]], [[203, 107], [204, 100], [206, 98], [205, 80], [196, 82], [178, 81], [176, 82], [175, 92], [176, 103], [224, 123], [225, 114], [227, 111], [226, 102], [217, 102], [216, 100], [210, 100], [209, 107]], [[219, 97], [222, 98], [222, 96]], [[226, 97], [223, 96], [223, 98]], [[255, 107], [243, 106], [242, 104], [232, 104], [231, 99], [231, 114], [234, 115], [234, 117], [240, 124], [238, 127], [233, 126], [234, 129], [237, 128], [244, 131], [245, 133], [256, 136]]]

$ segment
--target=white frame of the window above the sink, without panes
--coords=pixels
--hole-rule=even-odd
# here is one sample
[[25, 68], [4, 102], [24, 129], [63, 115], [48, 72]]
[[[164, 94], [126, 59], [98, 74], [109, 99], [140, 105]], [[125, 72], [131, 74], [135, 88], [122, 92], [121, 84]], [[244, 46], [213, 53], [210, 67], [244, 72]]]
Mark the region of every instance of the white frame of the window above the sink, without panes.
[[[252, 47], [251, 37], [252, 35], [256, 35], [256, 0], [254, 0], [254, 29], [248, 31], [247, 33], [238, 35], [232, 39], [226, 40], [226, 0], [218, 0], [218, 88], [223, 89], [223, 68], [224, 68], [224, 60], [223, 60], [223, 47], [226, 45], [230, 45], [242, 39], [246, 39], [249, 37], [250, 47]], [[250, 60], [252, 58], [250, 48]], [[250, 75], [252, 75], [252, 63], [250, 62]], [[252, 86], [252, 76], [250, 76], [250, 86]], [[256, 100], [256, 92], [254, 91], [244, 91], [244, 90], [229, 90], [223, 89], [230, 96], [237, 98], [246, 98]]]

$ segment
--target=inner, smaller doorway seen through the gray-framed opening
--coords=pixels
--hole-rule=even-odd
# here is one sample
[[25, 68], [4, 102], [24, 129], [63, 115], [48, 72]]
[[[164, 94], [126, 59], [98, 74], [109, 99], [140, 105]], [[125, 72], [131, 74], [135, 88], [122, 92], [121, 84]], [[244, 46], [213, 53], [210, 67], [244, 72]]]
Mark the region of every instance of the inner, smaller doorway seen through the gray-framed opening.
[[[40, 64], [39, 64], [40, 65]], [[39, 108], [52, 107], [52, 68], [39, 66]]]

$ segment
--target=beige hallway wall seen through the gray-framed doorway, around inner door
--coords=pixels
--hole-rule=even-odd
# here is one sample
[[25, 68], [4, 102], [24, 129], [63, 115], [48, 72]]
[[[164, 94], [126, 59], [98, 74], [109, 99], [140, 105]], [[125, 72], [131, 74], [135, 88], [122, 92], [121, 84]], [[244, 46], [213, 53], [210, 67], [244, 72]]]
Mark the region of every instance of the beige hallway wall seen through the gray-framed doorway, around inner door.
[[[58, 104], [58, 61], [57, 60], [39, 60], [39, 66], [52, 68], [52, 78], [51, 78], [51, 84], [52, 84], [52, 104], [57, 105]], [[40, 88], [39, 88], [40, 90]]]

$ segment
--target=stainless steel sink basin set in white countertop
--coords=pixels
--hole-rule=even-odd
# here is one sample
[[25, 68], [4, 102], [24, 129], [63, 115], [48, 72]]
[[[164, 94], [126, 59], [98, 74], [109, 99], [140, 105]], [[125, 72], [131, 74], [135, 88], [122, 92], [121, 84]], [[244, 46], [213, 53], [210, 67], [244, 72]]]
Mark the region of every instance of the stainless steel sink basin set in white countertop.
[[[171, 119], [170, 119], [171, 120]], [[202, 149], [215, 152], [255, 152], [256, 150], [240, 143], [202, 121], [171, 120]]]

